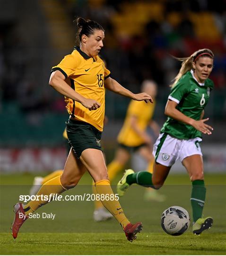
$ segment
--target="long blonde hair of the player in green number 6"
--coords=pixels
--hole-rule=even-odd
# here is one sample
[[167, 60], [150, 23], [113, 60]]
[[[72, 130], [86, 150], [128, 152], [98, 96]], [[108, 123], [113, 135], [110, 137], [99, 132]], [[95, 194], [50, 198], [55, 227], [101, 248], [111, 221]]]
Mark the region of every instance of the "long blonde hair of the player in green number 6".
[[182, 62], [181, 65], [181, 69], [179, 71], [179, 73], [176, 75], [176, 77], [174, 78], [174, 83], [170, 85], [170, 87], [174, 87], [174, 85], [180, 80], [180, 78], [188, 71], [190, 71], [192, 69], [192, 62], [196, 62], [199, 57], [209, 57], [211, 59], [214, 58], [214, 55], [212, 53], [211, 50], [209, 49], [200, 49], [196, 52], [194, 52], [191, 56], [187, 57], [187, 58], [176, 58], [174, 57], [176, 60], [179, 60]]

